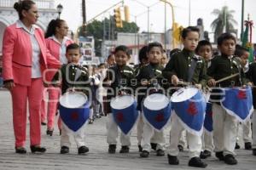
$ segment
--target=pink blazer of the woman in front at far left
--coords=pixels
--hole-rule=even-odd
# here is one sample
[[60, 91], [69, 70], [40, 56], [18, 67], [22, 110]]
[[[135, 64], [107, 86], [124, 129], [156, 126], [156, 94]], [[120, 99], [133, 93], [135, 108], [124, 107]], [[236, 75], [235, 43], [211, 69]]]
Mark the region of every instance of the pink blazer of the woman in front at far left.
[[[43, 75], [48, 66], [59, 68], [61, 63], [46, 48], [44, 32], [36, 27], [35, 37], [41, 50], [40, 69]], [[32, 43], [30, 36], [16, 23], [3, 33], [3, 80], [30, 86], [32, 77]]]

